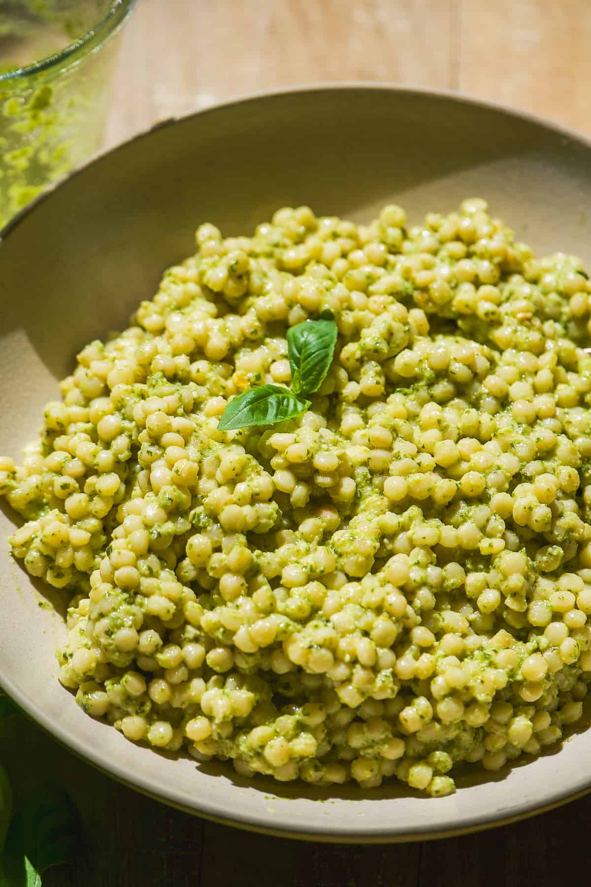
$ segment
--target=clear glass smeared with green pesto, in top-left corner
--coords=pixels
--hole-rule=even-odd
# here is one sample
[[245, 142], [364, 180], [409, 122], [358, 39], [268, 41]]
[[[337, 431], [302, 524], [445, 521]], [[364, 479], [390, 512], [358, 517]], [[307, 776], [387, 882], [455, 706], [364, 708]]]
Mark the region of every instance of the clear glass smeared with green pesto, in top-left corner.
[[97, 150], [134, 4], [19, 0], [0, 16], [0, 227]]

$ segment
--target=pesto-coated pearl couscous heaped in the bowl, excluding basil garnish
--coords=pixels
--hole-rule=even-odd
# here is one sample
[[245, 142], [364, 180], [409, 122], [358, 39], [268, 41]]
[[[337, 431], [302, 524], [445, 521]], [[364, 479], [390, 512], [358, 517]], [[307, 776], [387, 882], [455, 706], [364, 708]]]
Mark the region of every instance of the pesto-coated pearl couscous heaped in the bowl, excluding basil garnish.
[[[431, 796], [581, 718], [591, 674], [591, 285], [484, 200], [408, 227], [284, 208], [197, 232], [93, 341], [0, 492], [71, 596], [60, 679], [132, 742], [243, 776]], [[334, 318], [307, 412], [286, 332]]]

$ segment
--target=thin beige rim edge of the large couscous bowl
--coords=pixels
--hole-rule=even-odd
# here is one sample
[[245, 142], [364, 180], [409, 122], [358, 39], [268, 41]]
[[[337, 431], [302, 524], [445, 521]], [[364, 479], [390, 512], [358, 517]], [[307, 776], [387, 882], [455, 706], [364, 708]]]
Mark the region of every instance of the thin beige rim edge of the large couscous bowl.
[[[591, 148], [591, 136], [587, 136], [572, 127], [548, 120], [548, 118], [545, 118], [540, 114], [534, 114], [530, 111], [507, 106], [501, 102], [486, 98], [480, 98], [468, 93], [455, 92], [454, 90], [441, 90], [430, 87], [409, 86], [407, 84], [398, 82], [371, 81], [313, 82], [309, 84], [303, 83], [299, 85], [294, 85], [282, 89], [274, 88], [268, 90], [257, 90], [255, 92], [233, 96], [222, 102], [216, 102], [214, 105], [201, 108], [190, 114], [167, 117], [159, 122], [152, 124], [152, 126], [148, 127], [147, 129], [141, 130], [140, 132], [122, 141], [121, 143], [118, 143], [117, 145], [113, 145], [110, 148], [98, 151], [89, 159], [89, 161], [79, 167], [76, 167], [75, 169], [66, 173], [65, 176], [60, 177], [55, 182], [49, 184], [41, 194], [35, 197], [34, 200], [31, 200], [26, 207], [19, 211], [16, 216], [12, 216], [12, 219], [4, 225], [4, 228], [0, 229], [0, 249], [4, 246], [4, 241], [6, 241], [6, 239], [10, 237], [12, 232], [16, 231], [16, 229], [19, 227], [19, 224], [21, 224], [27, 218], [27, 216], [35, 210], [35, 208], [43, 203], [43, 201], [48, 200], [51, 197], [51, 194], [59, 187], [61, 187], [63, 184], [66, 184], [66, 182], [68, 182], [70, 179], [79, 176], [80, 174], [82, 174], [82, 172], [84, 172], [90, 166], [94, 166], [107, 155], [112, 155], [123, 149], [126, 149], [128, 145], [139, 142], [142, 139], [149, 137], [150, 135], [152, 135], [152, 132], [155, 132], [156, 130], [173, 125], [175, 123], [186, 122], [194, 117], [205, 116], [207, 114], [216, 113], [222, 109], [260, 101], [261, 99], [281, 98], [284, 96], [297, 94], [299, 94], [300, 96], [304, 96], [309, 93], [342, 91], [391, 92], [396, 95], [407, 95], [411, 98], [413, 96], [417, 98], [426, 96], [431, 98], [440, 98], [449, 102], [453, 102], [457, 105], [470, 105], [475, 108], [484, 108], [486, 110], [505, 114], [519, 121], [533, 123], [550, 133], [568, 138], [578, 143], [579, 145], [584, 145], [587, 148]], [[587, 792], [591, 791], [591, 772], [589, 772], [587, 778], [583, 778], [579, 781], [576, 789], [556, 789], [549, 795], [544, 797], [541, 801], [540, 799], [525, 799], [511, 808], [510, 815], [507, 815], [506, 808], [501, 808], [496, 812], [483, 812], [481, 814], [471, 815], [469, 821], [467, 821], [464, 825], [458, 826], [457, 828], [439, 828], [438, 826], [432, 826], [424, 831], [421, 831], [419, 829], [405, 831], [403, 827], [396, 828], [394, 823], [385, 825], [383, 828], [371, 828], [370, 830], [363, 830], [362, 828], [349, 826], [345, 822], [338, 821], [337, 818], [333, 818], [330, 821], [330, 824], [327, 824], [327, 827], [323, 828], [322, 832], [319, 832], [314, 828], [314, 826], [310, 826], [309, 828], [307, 828], [306, 824], [302, 823], [301, 821], [298, 821], [296, 825], [295, 821], [292, 820], [291, 825], [289, 821], [290, 817], [288, 815], [284, 815], [281, 819], [277, 819], [276, 826], [273, 827], [269, 825], [269, 820], [271, 819], [271, 817], [268, 814], [264, 814], [262, 812], [243, 813], [237, 808], [231, 813], [231, 815], [229, 815], [227, 805], [224, 805], [223, 803], [216, 803], [215, 800], [211, 801], [203, 798], [198, 798], [198, 803], [194, 805], [187, 805], [186, 801], [183, 800], [181, 795], [176, 792], [174, 788], [162, 787], [158, 791], [154, 791], [149, 779], [146, 779], [141, 774], [138, 774], [136, 776], [134, 776], [133, 774], [129, 774], [128, 771], [124, 770], [124, 768], [119, 765], [116, 760], [111, 761], [107, 764], [105, 762], [104, 755], [102, 755], [101, 752], [97, 750], [94, 746], [87, 746], [82, 740], [79, 740], [75, 736], [73, 737], [68, 734], [66, 730], [60, 726], [57, 720], [54, 720], [49, 715], [46, 715], [41, 708], [39, 708], [35, 703], [29, 700], [27, 695], [19, 690], [19, 687], [15, 685], [12, 679], [8, 678], [2, 672], [0, 672], [0, 689], [2, 689], [6, 693], [6, 695], [12, 698], [12, 700], [19, 706], [19, 709], [23, 711], [23, 713], [34, 720], [35, 723], [40, 726], [45, 733], [50, 734], [51, 737], [55, 739], [60, 745], [64, 746], [67, 750], [72, 752], [74, 755], [76, 755], [76, 757], [81, 757], [84, 761], [86, 761], [89, 765], [93, 766], [101, 773], [104, 773], [106, 776], [110, 776], [112, 779], [121, 782], [128, 788], [135, 789], [136, 791], [147, 797], [151, 797], [162, 803], [175, 807], [178, 810], [182, 810], [183, 812], [188, 812], [192, 815], [203, 817], [206, 820], [212, 820], [222, 825], [233, 826], [235, 828], [241, 828], [246, 831], [259, 832], [261, 834], [271, 836], [284, 838], [291, 837], [300, 840], [315, 840], [327, 843], [346, 844], [393, 844], [405, 843], [409, 841], [432, 840], [436, 838], [466, 835], [472, 832], [482, 831], [486, 828], [498, 828], [500, 826], [509, 825], [510, 823], [517, 822], [519, 820], [528, 819], [538, 813], [548, 812], [549, 810], [567, 804], [572, 800], [583, 797], [587, 794]], [[257, 787], [256, 783], [253, 783], [253, 787]]]

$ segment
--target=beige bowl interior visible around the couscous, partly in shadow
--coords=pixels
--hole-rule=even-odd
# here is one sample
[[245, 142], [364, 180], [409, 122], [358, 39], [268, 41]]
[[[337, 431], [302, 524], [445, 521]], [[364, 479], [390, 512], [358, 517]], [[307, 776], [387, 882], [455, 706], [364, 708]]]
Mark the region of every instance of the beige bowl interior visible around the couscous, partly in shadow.
[[[366, 220], [389, 201], [419, 221], [476, 195], [536, 250], [591, 260], [589, 145], [449, 96], [379, 87], [269, 95], [167, 123], [106, 154], [0, 242], [0, 453], [19, 457], [76, 351], [127, 325], [161, 271], [191, 254], [201, 222], [251, 232], [273, 209], [302, 203]], [[63, 624], [9, 556], [11, 530], [0, 512], [0, 684], [58, 740], [154, 797], [246, 828], [389, 841], [509, 820], [591, 784], [591, 732], [439, 800], [249, 784], [227, 765], [137, 747], [58, 684]]]

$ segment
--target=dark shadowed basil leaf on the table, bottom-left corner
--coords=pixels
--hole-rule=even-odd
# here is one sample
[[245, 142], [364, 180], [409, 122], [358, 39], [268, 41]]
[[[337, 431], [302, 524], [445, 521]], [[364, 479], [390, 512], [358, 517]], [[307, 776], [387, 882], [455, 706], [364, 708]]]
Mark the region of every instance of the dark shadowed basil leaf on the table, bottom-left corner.
[[44, 786], [12, 820], [4, 876], [11, 887], [40, 887], [45, 869], [72, 860], [79, 844], [74, 805], [58, 786]]

